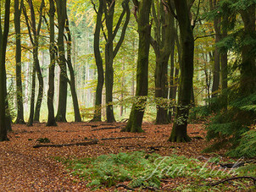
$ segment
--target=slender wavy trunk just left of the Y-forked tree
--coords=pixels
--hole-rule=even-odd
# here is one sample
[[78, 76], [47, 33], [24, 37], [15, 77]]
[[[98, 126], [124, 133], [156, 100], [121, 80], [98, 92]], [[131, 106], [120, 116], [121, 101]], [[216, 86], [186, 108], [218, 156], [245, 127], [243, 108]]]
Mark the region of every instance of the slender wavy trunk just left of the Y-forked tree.
[[103, 70], [103, 58], [99, 50], [99, 39], [100, 30], [102, 27], [102, 17], [103, 17], [103, 0], [99, 0], [99, 7], [97, 11], [97, 22], [94, 32], [93, 50], [95, 62], [97, 65], [97, 88], [95, 95], [95, 109], [92, 121], [102, 120], [102, 96], [103, 96], [103, 84], [104, 84], [104, 70]]

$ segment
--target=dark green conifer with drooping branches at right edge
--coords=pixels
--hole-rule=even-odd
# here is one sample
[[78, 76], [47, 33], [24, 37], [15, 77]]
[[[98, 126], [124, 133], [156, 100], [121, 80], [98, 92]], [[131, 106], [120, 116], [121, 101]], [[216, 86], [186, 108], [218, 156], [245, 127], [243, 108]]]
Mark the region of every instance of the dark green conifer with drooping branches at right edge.
[[[215, 143], [206, 151], [214, 151], [227, 145], [230, 149], [237, 146], [239, 148], [239, 141], [243, 135], [249, 134], [248, 130], [254, 123], [256, 102], [255, 4], [253, 0], [222, 0], [220, 7], [216, 10], [224, 18], [225, 28], [232, 30], [218, 46], [236, 54], [237, 59], [231, 70], [237, 70], [240, 73], [229, 74], [233, 85], [226, 91], [227, 107], [225, 110], [220, 110], [207, 127], [207, 139], [214, 139]], [[239, 14], [241, 17], [237, 16]]]

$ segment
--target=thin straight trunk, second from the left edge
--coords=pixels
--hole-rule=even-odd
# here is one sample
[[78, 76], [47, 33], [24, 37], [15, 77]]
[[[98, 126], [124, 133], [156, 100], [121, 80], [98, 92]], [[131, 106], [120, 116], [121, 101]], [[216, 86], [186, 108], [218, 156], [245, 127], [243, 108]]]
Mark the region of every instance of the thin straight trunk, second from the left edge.
[[21, 41], [20, 41], [20, 14], [23, 7], [23, 0], [14, 1], [14, 28], [16, 34], [16, 89], [17, 89], [17, 118], [15, 123], [25, 124], [24, 109], [23, 109], [23, 96], [22, 96], [22, 80], [21, 80]]

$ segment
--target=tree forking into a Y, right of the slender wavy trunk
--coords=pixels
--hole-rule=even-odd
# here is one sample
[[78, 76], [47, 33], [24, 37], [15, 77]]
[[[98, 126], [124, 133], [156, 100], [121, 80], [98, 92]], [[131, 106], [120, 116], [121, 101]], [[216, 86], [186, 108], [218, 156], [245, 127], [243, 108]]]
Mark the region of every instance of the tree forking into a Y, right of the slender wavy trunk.
[[[130, 0], [124, 0], [122, 2], [123, 12], [120, 14], [120, 18], [117, 22], [117, 25], [114, 28], [114, 0], [106, 0], [103, 3], [103, 10], [105, 14], [105, 24], [108, 31], [108, 36], [106, 37], [106, 45], [105, 45], [105, 86], [106, 86], [106, 112], [107, 112], [107, 122], [112, 123], [115, 122], [114, 119], [114, 110], [113, 110], [113, 84], [114, 84], [114, 69], [113, 62], [116, 54], [119, 52], [120, 46], [125, 39], [125, 30], [130, 20], [130, 8], [129, 8]], [[114, 47], [114, 39], [120, 30], [120, 25], [122, 23], [123, 17], [126, 14], [125, 24], [123, 25], [121, 36], [119, 41]]]

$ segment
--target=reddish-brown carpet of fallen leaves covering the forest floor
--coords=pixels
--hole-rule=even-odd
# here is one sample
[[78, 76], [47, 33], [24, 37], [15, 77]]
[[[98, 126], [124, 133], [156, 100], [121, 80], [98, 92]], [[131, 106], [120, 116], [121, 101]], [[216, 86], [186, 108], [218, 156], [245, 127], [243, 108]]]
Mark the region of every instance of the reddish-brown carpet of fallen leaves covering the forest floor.
[[[81, 158], [128, 151], [154, 151], [161, 156], [170, 156], [174, 150], [179, 156], [201, 156], [202, 161], [212, 156], [201, 153], [209, 145], [204, 139], [206, 130], [203, 124], [188, 125], [187, 132], [192, 137], [188, 143], [167, 141], [171, 124], [143, 123], [145, 133], [142, 134], [120, 132], [124, 126], [125, 123], [58, 123], [58, 127], [46, 127], [45, 123], [35, 123], [33, 127], [13, 125], [14, 131], [8, 134], [9, 141], [0, 144], [0, 191], [91, 191], [86, 188], [86, 181], [70, 174], [62, 162], [56, 161], [56, 156]], [[90, 139], [97, 140], [97, 144], [33, 148], [41, 145], [36, 141], [39, 138], [50, 140], [42, 145], [84, 143]], [[105, 138], [118, 139], [102, 140]], [[218, 152], [220, 156], [223, 153]], [[191, 178], [170, 178], [164, 181], [161, 189], [168, 191], [178, 184], [191, 182]], [[112, 190], [115, 190], [114, 186], [102, 189]]]

